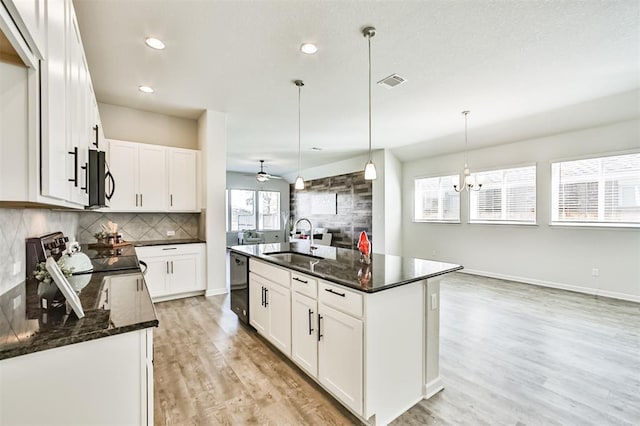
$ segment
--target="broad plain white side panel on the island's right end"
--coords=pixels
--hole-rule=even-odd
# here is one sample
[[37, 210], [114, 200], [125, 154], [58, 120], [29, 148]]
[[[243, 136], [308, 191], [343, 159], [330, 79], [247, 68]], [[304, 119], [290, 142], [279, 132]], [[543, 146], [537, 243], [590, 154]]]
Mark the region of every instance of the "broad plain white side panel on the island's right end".
[[418, 281], [365, 297], [363, 417], [371, 424], [387, 424], [423, 399], [424, 287]]

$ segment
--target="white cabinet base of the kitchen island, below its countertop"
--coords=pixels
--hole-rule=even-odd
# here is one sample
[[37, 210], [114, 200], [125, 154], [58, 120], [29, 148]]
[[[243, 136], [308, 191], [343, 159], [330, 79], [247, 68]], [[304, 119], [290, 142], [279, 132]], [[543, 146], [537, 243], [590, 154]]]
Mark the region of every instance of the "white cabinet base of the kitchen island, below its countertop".
[[[363, 293], [255, 259], [250, 269], [251, 324], [363, 422], [388, 424], [442, 389], [438, 303], [425, 303], [439, 279]], [[273, 330], [287, 315], [290, 352]]]

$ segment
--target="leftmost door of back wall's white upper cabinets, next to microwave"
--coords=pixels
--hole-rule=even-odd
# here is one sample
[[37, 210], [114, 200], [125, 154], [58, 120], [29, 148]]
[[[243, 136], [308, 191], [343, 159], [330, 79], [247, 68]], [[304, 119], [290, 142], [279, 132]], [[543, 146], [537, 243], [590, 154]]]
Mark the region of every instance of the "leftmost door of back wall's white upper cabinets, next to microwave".
[[109, 141], [109, 170], [116, 183], [109, 206], [114, 210], [136, 210], [139, 204], [138, 146]]

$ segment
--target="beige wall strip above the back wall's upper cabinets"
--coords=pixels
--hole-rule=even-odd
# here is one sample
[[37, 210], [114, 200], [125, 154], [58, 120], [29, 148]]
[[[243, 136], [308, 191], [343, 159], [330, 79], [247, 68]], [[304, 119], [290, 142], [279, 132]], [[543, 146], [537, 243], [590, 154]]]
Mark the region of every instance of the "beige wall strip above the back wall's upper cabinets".
[[198, 122], [139, 109], [98, 103], [107, 139], [198, 149]]

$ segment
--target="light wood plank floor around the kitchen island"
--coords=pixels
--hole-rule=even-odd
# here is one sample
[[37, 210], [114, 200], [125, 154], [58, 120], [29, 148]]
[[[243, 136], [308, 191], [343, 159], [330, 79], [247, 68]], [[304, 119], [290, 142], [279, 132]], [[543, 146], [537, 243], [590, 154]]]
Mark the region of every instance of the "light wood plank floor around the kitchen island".
[[[394, 424], [640, 424], [640, 304], [460, 273], [441, 291], [445, 390]], [[156, 305], [157, 425], [358, 423], [228, 303]]]

